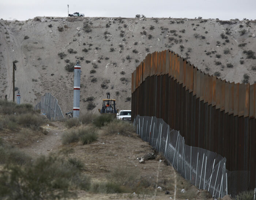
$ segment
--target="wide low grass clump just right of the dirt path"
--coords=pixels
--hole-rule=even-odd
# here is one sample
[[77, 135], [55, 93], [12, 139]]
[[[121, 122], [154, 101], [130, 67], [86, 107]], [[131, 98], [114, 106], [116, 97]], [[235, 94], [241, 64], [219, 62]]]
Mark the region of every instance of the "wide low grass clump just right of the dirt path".
[[65, 132], [61, 138], [63, 144], [80, 141], [84, 144], [91, 144], [98, 139], [98, 135], [93, 128], [80, 127]]

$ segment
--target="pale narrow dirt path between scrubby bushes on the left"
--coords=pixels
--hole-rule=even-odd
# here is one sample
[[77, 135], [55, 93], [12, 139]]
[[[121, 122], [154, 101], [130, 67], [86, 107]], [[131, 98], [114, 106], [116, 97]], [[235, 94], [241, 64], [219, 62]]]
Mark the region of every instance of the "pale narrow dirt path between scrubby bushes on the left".
[[31, 144], [31, 146], [22, 148], [22, 151], [33, 158], [39, 155], [48, 155], [50, 152], [57, 151], [61, 145], [61, 135], [65, 130], [63, 123], [52, 122], [50, 125], [46, 125], [43, 128], [49, 131], [48, 135]]

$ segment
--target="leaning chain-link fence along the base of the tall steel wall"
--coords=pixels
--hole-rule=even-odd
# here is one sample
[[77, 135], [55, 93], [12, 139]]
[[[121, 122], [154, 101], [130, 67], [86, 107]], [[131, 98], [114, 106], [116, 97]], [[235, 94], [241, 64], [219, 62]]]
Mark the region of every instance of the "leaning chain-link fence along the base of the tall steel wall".
[[173, 130], [162, 119], [136, 116], [133, 125], [137, 134], [158, 152], [163, 152], [182, 177], [199, 189], [206, 189], [214, 198], [247, 190], [248, 171], [228, 171], [226, 158], [215, 152], [185, 144], [179, 131]]

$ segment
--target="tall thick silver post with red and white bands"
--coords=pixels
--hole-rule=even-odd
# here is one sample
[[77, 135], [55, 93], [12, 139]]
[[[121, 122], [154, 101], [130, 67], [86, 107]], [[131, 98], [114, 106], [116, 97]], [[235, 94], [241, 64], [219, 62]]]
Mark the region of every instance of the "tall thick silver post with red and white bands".
[[76, 61], [74, 66], [74, 103], [73, 103], [73, 117], [79, 117], [80, 112], [80, 76], [81, 66], [79, 61]]

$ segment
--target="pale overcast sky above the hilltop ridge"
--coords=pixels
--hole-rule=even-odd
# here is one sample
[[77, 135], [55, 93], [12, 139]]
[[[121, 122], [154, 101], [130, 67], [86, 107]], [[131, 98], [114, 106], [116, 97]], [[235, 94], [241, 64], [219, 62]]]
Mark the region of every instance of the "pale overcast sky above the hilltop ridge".
[[27, 20], [35, 16], [256, 19], [256, 0], [0, 0], [0, 18]]

